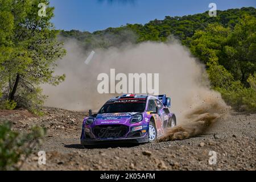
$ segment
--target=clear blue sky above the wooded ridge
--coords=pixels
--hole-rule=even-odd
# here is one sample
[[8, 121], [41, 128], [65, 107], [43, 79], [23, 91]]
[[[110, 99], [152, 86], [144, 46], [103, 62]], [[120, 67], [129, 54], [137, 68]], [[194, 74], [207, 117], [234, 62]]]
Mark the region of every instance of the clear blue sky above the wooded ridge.
[[126, 23], [147, 23], [164, 16], [183, 16], [208, 11], [256, 7], [255, 0], [50, 0], [55, 7], [52, 22], [57, 29], [96, 31]]

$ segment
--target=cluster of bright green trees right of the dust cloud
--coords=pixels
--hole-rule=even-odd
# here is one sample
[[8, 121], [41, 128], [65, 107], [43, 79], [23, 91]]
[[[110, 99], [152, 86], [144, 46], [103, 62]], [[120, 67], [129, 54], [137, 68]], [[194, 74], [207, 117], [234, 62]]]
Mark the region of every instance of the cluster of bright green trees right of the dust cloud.
[[255, 23], [244, 16], [233, 30], [209, 24], [191, 38], [191, 52], [207, 65], [212, 88], [238, 111], [256, 111]]

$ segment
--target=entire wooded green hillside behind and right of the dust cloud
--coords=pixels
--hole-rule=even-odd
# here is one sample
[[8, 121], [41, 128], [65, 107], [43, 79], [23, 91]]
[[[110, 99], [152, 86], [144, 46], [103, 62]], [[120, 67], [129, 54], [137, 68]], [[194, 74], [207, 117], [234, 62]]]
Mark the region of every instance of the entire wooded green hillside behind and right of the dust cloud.
[[256, 111], [256, 11], [254, 7], [166, 16], [144, 25], [127, 24], [102, 31], [61, 31], [79, 40], [85, 51], [118, 47], [122, 43], [171, 42], [179, 39], [207, 68], [212, 88], [238, 111]]

